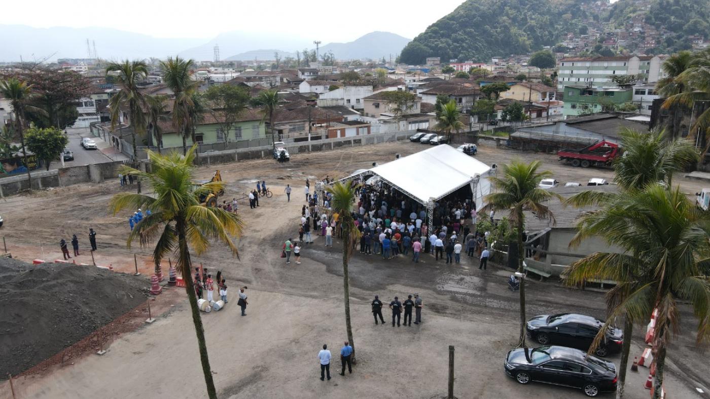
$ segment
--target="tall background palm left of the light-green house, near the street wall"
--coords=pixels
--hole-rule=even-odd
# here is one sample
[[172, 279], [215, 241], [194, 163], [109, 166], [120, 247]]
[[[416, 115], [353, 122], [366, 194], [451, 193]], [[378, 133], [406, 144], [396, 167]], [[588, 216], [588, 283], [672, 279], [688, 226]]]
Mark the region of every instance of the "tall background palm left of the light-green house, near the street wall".
[[[148, 76], [148, 66], [143, 61], [110, 62], [106, 67], [106, 72], [118, 72], [116, 81], [121, 90], [114, 94], [109, 100], [109, 112], [111, 113], [111, 129], [116, 128], [116, 122], [121, 120], [121, 107], [126, 106], [129, 111], [129, 120], [133, 128], [131, 144], [133, 146], [133, 159], [138, 159], [138, 147], [136, 147], [136, 135], [143, 133], [146, 128], [146, 116], [143, 109], [146, 108], [146, 96], [138, 89], [138, 82]], [[122, 137], [121, 137], [122, 138]], [[138, 193], [141, 193], [141, 179], [138, 179]]]

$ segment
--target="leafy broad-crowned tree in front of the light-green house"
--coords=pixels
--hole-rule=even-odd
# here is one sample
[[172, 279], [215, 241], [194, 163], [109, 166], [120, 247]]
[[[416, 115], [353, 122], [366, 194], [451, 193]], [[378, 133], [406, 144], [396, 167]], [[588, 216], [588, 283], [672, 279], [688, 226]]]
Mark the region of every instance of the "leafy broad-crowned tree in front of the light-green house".
[[239, 114], [249, 103], [249, 91], [241, 86], [215, 84], [209, 86], [202, 97], [207, 100], [207, 109], [209, 110], [207, 112], [212, 114], [214, 120], [217, 120], [226, 140], [226, 137], [229, 137], [229, 130], [239, 120]]

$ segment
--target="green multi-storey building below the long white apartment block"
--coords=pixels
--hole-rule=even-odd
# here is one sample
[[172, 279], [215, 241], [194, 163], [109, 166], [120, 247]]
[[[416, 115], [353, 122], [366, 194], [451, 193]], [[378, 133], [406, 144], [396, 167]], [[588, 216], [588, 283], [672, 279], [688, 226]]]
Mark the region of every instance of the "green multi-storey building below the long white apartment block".
[[632, 89], [564, 86], [562, 117], [586, 113], [613, 111], [615, 106], [628, 103], [633, 97]]

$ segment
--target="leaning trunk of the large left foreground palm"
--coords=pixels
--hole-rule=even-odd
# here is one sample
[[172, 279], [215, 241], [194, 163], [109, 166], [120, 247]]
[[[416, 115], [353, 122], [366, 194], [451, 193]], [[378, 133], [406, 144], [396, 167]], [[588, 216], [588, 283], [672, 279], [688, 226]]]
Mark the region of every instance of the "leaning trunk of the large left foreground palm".
[[197, 346], [200, 348], [200, 362], [202, 363], [204, 383], [207, 386], [207, 396], [209, 399], [217, 399], [217, 389], [214, 388], [212, 369], [209, 367], [209, 357], [207, 356], [207, 343], [204, 340], [202, 317], [200, 316], [200, 309], [197, 308], [197, 294], [195, 293], [195, 286], [192, 284], [192, 262], [190, 261], [190, 250], [187, 248], [187, 241], [185, 239], [184, 220], [178, 220], [175, 228], [178, 230], [178, 245], [180, 247], [180, 259], [178, 259], [178, 264], [180, 265], [180, 271], [182, 271], [182, 279], [185, 281], [187, 298], [190, 301], [190, 310], [192, 310], [192, 324], [195, 325]]

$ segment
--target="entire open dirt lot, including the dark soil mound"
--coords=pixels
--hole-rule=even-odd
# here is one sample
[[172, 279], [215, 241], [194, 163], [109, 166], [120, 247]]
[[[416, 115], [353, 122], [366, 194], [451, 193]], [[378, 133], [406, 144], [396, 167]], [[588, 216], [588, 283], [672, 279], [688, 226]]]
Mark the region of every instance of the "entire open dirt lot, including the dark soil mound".
[[[194, 266], [221, 271], [229, 286], [229, 304], [202, 313], [219, 398], [441, 397], [449, 345], [456, 348], [458, 398], [584, 396], [552, 386], [530, 389], [503, 372], [503, 356], [518, 339], [518, 293], [506, 288], [507, 266], [489, 265], [481, 274], [477, 259], [449, 266], [430, 254], [416, 265], [406, 257], [383, 262], [354, 255], [350, 306], [358, 362], [352, 374], [320, 381], [318, 351], [328, 344], [334, 351], [331, 372], [339, 373], [335, 358], [346, 339], [342, 241], [325, 247], [314, 234], [315, 242], [302, 247], [302, 264], [280, 259], [283, 242], [298, 235], [305, 181], [340, 179], [421, 150], [425, 146], [416, 142], [386, 142], [300, 152], [290, 162], [253, 159], [197, 168], [196, 182], [225, 184], [223, 193], [200, 200], [214, 206], [236, 199], [246, 222], [236, 240], [239, 257], [224, 245], [192, 254]], [[556, 154], [491, 144], [479, 145], [475, 159], [486, 165], [539, 159], [562, 184], [613, 181], [611, 169], [572, 167]], [[248, 193], [257, 181], [266, 181], [273, 196], [259, 198], [251, 209]], [[707, 183], [683, 174], [674, 181], [689, 196]], [[290, 201], [287, 184], [293, 189]], [[169, 284], [173, 259], [161, 264], [162, 280], [151, 281], [154, 243], [127, 248], [133, 212], [109, 213], [112, 196], [135, 190], [136, 184], [122, 186], [115, 179], [35, 190], [0, 203], [0, 249], [11, 256], [0, 259], [0, 399], [207, 397], [185, 288]], [[89, 228], [97, 232], [94, 252]], [[80, 255], [65, 262], [59, 242], [72, 235]], [[249, 287], [245, 317], [236, 305], [241, 286]], [[530, 316], [583, 311], [606, 318], [602, 290], [571, 289], [550, 279], [530, 281], [527, 291]], [[423, 298], [422, 325], [373, 324], [375, 295], [389, 303], [411, 293]], [[696, 322], [689, 309], [682, 315], [687, 328], [669, 349], [665, 387], [672, 398], [709, 398], [706, 360], [694, 341]], [[643, 351], [641, 330], [635, 332], [632, 357]], [[618, 364], [618, 355], [610, 360]], [[626, 398], [648, 398], [647, 376], [648, 369], [628, 373]]]

